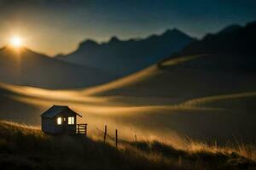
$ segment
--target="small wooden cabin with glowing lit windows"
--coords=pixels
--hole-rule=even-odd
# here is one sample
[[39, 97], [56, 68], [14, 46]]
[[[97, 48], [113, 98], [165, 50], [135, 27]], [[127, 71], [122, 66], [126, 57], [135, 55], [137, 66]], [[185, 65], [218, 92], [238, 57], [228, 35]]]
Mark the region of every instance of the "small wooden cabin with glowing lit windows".
[[67, 105], [53, 105], [41, 115], [42, 131], [49, 134], [75, 134], [79, 125], [77, 116], [80, 115]]

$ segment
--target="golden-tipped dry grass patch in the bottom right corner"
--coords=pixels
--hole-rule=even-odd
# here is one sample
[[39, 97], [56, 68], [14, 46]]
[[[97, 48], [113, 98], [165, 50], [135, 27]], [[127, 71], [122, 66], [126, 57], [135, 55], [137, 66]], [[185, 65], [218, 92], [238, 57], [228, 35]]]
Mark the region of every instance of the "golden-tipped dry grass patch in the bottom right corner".
[[[137, 142], [138, 150], [159, 154], [163, 160], [184, 169], [247, 169], [255, 167], [255, 148], [219, 147], [191, 142], [187, 150], [178, 150], [172, 145], [152, 142]], [[252, 153], [254, 153], [252, 155]], [[159, 159], [158, 159], [159, 160]]]

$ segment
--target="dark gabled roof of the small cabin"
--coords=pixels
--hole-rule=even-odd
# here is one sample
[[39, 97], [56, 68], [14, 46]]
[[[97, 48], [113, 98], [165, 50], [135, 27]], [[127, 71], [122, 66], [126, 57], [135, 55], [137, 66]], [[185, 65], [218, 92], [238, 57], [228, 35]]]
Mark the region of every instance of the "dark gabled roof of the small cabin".
[[73, 114], [82, 117], [75, 111], [71, 110], [67, 105], [53, 105], [52, 107], [49, 108], [49, 110], [44, 111], [44, 113], [41, 116], [52, 118], [54, 116], [57, 116], [59, 113], [61, 113], [61, 111], [64, 111], [64, 110], [70, 111]]

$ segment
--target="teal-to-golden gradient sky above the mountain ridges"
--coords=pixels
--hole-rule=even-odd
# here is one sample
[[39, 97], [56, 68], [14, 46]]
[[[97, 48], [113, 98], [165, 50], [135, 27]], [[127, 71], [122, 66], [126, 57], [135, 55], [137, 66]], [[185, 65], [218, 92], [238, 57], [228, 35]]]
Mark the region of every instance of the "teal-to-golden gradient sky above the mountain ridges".
[[148, 37], [176, 27], [203, 37], [256, 20], [255, 0], [0, 0], [0, 47], [15, 35], [26, 47], [68, 54], [79, 42]]

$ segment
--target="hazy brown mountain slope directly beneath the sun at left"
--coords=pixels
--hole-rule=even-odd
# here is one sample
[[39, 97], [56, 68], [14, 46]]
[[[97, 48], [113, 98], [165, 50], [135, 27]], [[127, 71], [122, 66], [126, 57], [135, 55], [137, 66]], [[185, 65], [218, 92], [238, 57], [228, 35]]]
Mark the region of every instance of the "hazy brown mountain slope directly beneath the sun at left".
[[70, 64], [27, 48], [0, 49], [0, 82], [40, 88], [80, 88], [112, 79], [106, 71]]

